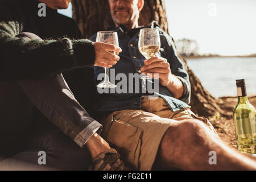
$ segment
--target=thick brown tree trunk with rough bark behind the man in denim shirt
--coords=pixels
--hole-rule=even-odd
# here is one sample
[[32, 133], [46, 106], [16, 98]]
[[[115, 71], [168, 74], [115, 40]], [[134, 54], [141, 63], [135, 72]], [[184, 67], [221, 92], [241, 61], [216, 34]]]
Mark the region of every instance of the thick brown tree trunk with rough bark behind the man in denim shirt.
[[[110, 15], [109, 4], [106, 0], [73, 0], [73, 18], [79, 24], [79, 28], [85, 38], [89, 38], [97, 31], [107, 30], [114, 26]], [[146, 25], [156, 20], [162, 30], [168, 32], [168, 23], [164, 0], [145, 0], [143, 10], [139, 18], [139, 25]], [[180, 57], [181, 58], [181, 57]], [[183, 60], [191, 82], [191, 106], [192, 110], [201, 116], [210, 117], [217, 112], [224, 114], [221, 109], [221, 100], [212, 97], [201, 84], [199, 78], [188, 68]]]

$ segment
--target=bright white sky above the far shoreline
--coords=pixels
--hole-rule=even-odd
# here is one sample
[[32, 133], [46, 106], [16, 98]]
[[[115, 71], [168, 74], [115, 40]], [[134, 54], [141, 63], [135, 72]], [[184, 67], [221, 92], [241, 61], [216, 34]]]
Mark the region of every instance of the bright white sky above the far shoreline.
[[[194, 39], [199, 53], [256, 53], [255, 0], [165, 0], [169, 32]], [[72, 17], [72, 7], [59, 10]]]

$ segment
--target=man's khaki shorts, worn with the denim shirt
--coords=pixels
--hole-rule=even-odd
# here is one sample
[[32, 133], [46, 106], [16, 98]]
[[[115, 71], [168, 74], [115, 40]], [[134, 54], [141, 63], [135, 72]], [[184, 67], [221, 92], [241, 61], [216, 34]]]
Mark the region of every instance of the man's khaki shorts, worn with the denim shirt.
[[166, 130], [186, 118], [203, 121], [217, 135], [207, 118], [190, 109], [172, 112], [163, 98], [142, 99], [141, 109], [114, 111], [104, 118], [102, 137], [122, 159], [137, 170], [151, 170]]

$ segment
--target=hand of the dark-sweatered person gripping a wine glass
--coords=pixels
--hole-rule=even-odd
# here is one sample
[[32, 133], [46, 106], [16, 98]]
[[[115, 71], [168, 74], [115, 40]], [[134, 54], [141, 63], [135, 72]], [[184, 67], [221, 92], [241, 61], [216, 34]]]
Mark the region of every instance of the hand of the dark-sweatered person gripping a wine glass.
[[[101, 42], [94, 42], [93, 44], [96, 54], [94, 66], [111, 68], [119, 61], [120, 57], [117, 55], [122, 51], [121, 48]], [[117, 55], [111, 52], [115, 52]]]

